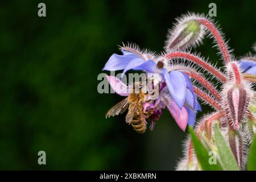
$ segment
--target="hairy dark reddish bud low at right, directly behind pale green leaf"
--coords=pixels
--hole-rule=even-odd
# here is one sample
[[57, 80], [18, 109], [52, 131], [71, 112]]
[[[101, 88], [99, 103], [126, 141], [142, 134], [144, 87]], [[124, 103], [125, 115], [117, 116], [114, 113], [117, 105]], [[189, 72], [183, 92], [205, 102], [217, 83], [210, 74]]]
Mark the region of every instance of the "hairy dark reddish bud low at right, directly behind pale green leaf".
[[238, 167], [243, 169], [245, 163], [245, 142], [240, 134], [240, 131], [229, 129], [228, 131], [229, 146], [237, 160]]

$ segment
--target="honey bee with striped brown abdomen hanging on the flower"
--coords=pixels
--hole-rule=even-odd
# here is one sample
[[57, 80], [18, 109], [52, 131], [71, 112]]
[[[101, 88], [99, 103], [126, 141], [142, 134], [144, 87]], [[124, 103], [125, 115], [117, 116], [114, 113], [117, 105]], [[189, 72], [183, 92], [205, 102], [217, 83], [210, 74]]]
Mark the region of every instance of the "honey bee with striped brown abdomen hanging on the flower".
[[[135, 85], [136, 84], [138, 83], [135, 82]], [[139, 89], [139, 93], [130, 93], [128, 97], [109, 109], [106, 113], [106, 118], [122, 114], [128, 108], [128, 113], [125, 118], [126, 123], [129, 125], [131, 124], [133, 129], [138, 133], [145, 133], [147, 129], [146, 118], [150, 117], [153, 113], [151, 110], [143, 111], [143, 104], [146, 102], [146, 96], [147, 93], [143, 93], [141, 89]]]

